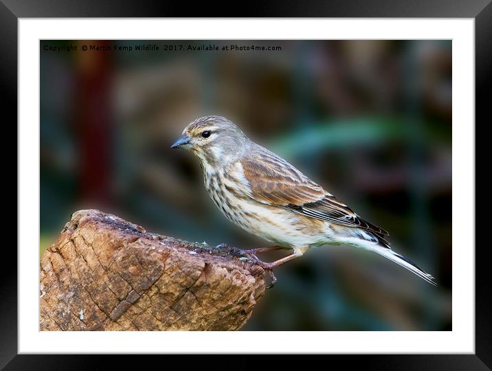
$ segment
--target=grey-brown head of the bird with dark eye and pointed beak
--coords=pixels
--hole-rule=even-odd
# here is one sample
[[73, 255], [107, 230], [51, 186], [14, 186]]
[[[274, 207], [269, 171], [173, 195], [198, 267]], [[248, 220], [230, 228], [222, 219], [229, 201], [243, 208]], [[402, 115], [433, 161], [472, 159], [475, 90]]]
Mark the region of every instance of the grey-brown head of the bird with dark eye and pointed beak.
[[227, 118], [205, 116], [190, 122], [171, 148], [191, 150], [208, 162], [227, 161], [241, 153], [249, 142], [241, 129]]

